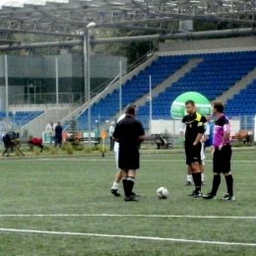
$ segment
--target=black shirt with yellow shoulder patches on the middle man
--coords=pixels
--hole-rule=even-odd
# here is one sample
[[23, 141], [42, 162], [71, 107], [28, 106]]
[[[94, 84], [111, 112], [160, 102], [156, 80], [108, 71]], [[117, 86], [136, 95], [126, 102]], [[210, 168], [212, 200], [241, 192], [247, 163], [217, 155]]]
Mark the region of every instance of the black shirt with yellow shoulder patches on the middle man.
[[192, 115], [183, 116], [181, 122], [186, 124], [185, 145], [191, 145], [195, 142], [199, 133], [204, 134], [204, 123], [207, 122], [207, 119], [204, 115], [194, 112]]

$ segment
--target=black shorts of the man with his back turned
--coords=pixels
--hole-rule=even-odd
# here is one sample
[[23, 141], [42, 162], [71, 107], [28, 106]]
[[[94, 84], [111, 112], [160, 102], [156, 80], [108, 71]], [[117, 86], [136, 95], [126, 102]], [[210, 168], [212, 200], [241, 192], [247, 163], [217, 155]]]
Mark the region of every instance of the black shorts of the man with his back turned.
[[140, 153], [138, 148], [122, 149], [119, 147], [118, 167], [120, 169], [140, 168]]

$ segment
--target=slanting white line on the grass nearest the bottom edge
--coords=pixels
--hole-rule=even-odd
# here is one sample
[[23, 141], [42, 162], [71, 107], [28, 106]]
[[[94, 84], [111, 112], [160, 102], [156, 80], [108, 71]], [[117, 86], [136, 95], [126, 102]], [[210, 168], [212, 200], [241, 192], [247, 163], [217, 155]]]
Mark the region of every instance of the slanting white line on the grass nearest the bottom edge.
[[103, 233], [100, 234], [100, 233], [82, 233], [82, 232], [60, 232], [60, 231], [44, 231], [44, 230], [30, 230], [30, 229], [16, 229], [16, 228], [0, 228], [0, 231], [37, 233], [37, 234], [95, 236], [95, 237], [107, 237], [107, 238], [126, 238], [126, 239], [157, 240], [157, 241], [172, 241], [172, 242], [190, 242], [190, 243], [205, 243], [205, 244], [219, 244], [219, 245], [256, 246], [256, 243], [188, 240], [188, 239], [177, 239], [177, 238], [168, 238], [168, 237], [164, 238], [164, 237], [154, 237], [154, 236], [119, 235], [119, 234], [103, 234]]

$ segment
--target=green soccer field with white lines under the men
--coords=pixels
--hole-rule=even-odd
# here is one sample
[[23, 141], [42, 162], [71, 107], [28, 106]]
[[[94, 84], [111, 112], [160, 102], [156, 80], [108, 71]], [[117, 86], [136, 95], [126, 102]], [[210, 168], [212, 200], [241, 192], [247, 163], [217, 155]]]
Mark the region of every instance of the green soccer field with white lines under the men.
[[[1, 160], [0, 255], [256, 255], [256, 151], [233, 152], [228, 202], [188, 197], [184, 154], [163, 153], [141, 156], [139, 202], [110, 194], [113, 154]], [[205, 166], [203, 193], [210, 154]], [[160, 186], [168, 199], [157, 198]], [[222, 177], [218, 197], [225, 192]]]

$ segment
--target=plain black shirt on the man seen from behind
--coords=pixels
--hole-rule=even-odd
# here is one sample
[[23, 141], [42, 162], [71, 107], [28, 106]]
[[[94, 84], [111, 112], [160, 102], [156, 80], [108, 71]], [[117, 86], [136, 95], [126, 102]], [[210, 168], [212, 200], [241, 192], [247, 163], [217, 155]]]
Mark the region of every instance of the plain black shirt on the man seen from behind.
[[145, 135], [142, 123], [133, 116], [126, 115], [115, 127], [113, 137], [119, 139], [120, 148], [137, 148], [141, 141], [139, 137]]

